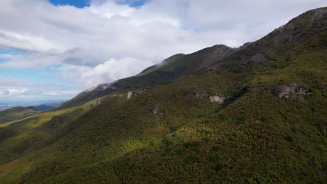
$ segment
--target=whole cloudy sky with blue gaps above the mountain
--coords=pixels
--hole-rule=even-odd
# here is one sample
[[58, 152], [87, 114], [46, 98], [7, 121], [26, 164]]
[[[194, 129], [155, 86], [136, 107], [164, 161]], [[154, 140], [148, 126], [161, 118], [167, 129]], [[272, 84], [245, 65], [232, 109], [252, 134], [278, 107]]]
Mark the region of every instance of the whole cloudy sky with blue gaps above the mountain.
[[0, 1], [0, 102], [68, 100], [177, 53], [258, 40], [325, 0]]

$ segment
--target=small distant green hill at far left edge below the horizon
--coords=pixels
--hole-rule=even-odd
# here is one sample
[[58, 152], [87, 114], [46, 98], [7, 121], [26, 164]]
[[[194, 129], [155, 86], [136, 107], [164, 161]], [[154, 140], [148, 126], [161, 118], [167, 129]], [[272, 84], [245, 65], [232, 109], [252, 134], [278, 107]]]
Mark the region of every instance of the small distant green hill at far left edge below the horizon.
[[37, 114], [38, 110], [28, 107], [13, 107], [0, 112], [0, 124]]

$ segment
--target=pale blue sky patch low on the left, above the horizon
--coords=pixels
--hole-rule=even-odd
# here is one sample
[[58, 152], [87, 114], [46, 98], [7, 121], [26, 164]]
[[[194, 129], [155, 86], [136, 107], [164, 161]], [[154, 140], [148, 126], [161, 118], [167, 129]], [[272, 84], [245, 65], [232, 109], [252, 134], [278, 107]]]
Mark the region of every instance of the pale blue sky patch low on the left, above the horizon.
[[[11, 59], [7, 56], [24, 57], [28, 54], [17, 49], [0, 48], [0, 63], [10, 63]], [[83, 88], [59, 77], [58, 67], [61, 65], [42, 68], [0, 67], [0, 102], [45, 102], [73, 98]]]

